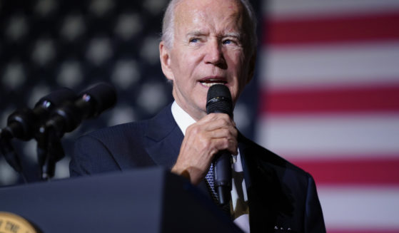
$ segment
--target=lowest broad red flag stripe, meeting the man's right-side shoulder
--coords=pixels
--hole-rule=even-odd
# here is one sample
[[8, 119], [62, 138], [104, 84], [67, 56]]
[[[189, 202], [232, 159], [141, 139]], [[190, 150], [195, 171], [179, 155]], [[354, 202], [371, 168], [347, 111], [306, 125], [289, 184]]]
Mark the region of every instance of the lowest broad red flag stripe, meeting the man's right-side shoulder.
[[397, 157], [374, 159], [291, 160], [320, 185], [399, 185]]

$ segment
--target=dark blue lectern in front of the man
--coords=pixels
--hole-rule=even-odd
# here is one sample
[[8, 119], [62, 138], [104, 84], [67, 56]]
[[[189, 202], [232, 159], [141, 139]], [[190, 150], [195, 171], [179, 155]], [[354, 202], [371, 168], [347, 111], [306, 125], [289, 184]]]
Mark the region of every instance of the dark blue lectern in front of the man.
[[0, 188], [0, 212], [39, 232], [241, 232], [188, 180], [162, 168]]

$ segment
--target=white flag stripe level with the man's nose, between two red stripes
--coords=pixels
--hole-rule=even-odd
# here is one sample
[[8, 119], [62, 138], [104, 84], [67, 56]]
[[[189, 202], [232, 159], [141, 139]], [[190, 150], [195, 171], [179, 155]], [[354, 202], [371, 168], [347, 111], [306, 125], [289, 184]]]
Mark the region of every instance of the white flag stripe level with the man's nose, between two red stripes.
[[399, 83], [399, 43], [266, 48], [263, 87], [309, 88]]

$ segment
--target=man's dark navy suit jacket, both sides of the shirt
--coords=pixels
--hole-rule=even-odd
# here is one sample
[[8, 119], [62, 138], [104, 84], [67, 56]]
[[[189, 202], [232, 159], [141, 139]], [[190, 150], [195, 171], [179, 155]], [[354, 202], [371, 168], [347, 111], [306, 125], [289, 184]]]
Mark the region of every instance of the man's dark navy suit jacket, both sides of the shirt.
[[[168, 105], [150, 120], [96, 130], [79, 138], [71, 176], [137, 167], [171, 168], [182, 141], [183, 133]], [[325, 232], [315, 182], [307, 172], [243, 135], [238, 136], [238, 147], [251, 232]]]

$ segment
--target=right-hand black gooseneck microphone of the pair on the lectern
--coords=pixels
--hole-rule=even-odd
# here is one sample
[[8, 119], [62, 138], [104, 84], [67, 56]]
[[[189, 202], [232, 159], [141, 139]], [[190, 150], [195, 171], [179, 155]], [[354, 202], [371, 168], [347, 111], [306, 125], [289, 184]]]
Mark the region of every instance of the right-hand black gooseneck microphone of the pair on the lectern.
[[85, 90], [74, 102], [56, 108], [39, 128], [38, 163], [44, 180], [54, 177], [56, 162], [64, 157], [61, 138], [76, 129], [83, 120], [100, 115], [116, 104], [116, 90], [108, 83], [98, 83]]

